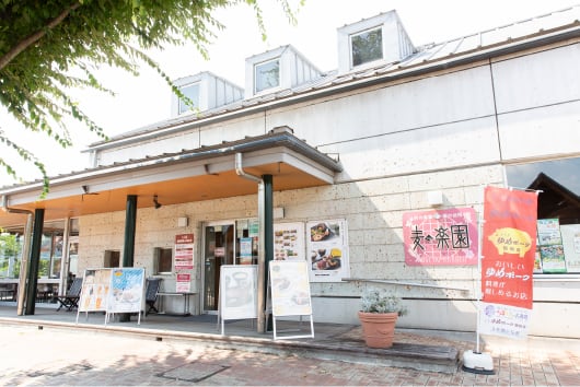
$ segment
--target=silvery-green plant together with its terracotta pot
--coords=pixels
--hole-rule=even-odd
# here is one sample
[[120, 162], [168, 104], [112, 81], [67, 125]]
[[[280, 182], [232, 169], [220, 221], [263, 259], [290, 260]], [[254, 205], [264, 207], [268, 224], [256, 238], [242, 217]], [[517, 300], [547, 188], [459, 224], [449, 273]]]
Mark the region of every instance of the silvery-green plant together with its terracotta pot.
[[401, 297], [381, 289], [368, 288], [361, 297], [359, 320], [370, 348], [390, 348], [398, 316], [407, 314]]

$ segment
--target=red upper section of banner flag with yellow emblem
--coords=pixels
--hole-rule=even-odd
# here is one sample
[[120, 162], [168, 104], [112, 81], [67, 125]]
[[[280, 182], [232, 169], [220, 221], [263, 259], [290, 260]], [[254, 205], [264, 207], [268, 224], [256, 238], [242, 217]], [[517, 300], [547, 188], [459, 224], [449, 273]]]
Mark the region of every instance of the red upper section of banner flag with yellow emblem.
[[532, 308], [537, 194], [486, 187], [482, 294], [486, 303]]

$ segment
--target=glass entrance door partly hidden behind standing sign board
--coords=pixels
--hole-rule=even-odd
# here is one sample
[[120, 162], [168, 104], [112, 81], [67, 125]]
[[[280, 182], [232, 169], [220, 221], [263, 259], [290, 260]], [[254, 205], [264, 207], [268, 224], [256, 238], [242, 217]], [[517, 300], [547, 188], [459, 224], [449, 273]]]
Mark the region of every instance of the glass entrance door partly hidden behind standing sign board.
[[217, 313], [220, 296], [220, 268], [233, 265], [234, 222], [208, 223], [204, 227], [204, 310]]

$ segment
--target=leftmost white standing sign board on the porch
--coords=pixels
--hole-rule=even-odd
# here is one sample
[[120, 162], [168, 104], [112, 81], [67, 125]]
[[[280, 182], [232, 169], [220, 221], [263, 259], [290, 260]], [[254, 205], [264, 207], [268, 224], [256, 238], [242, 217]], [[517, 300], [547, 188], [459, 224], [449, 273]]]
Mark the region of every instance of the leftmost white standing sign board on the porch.
[[81, 312], [84, 312], [86, 317], [89, 317], [89, 312], [106, 312], [109, 285], [111, 269], [84, 270], [77, 322], [79, 322]]

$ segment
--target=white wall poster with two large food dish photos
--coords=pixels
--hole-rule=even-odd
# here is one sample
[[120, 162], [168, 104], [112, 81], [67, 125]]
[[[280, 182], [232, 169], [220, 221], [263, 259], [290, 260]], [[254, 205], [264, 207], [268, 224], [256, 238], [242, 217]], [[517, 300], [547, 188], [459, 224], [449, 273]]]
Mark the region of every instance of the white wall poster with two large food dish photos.
[[312, 282], [340, 282], [350, 275], [346, 220], [308, 222], [306, 237]]

